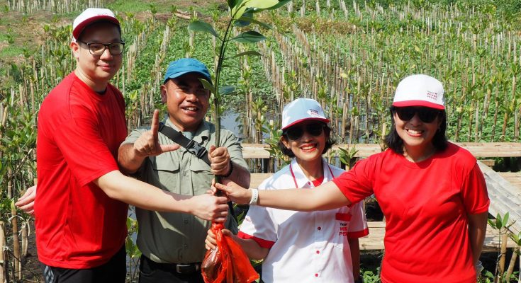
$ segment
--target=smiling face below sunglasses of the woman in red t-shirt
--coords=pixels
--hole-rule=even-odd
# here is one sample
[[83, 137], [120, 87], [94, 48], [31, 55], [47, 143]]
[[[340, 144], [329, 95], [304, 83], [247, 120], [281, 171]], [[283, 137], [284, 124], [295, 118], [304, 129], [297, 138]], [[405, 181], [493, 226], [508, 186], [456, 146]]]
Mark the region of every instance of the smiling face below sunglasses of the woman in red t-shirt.
[[418, 117], [418, 113], [415, 113], [410, 120], [401, 120], [398, 113], [393, 111], [393, 119], [396, 132], [403, 140], [405, 151], [430, 152], [434, 149], [432, 138], [442, 123], [439, 115], [432, 122], [423, 122]]

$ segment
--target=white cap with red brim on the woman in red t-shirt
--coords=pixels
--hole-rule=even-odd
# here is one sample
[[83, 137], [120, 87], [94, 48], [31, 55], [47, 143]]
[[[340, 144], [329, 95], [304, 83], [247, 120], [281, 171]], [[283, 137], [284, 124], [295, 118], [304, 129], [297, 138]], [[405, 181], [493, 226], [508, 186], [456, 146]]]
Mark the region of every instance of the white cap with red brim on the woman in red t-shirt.
[[443, 85], [427, 75], [411, 75], [400, 81], [394, 94], [393, 106], [425, 106], [445, 109]]

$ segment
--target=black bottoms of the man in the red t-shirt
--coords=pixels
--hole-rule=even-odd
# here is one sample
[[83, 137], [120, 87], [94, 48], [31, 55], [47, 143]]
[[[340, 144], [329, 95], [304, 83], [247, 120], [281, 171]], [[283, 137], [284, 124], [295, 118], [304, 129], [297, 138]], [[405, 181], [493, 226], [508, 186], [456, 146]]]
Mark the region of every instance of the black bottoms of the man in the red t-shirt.
[[45, 283], [124, 283], [127, 254], [123, 246], [111, 260], [98, 267], [74, 270], [43, 265]]

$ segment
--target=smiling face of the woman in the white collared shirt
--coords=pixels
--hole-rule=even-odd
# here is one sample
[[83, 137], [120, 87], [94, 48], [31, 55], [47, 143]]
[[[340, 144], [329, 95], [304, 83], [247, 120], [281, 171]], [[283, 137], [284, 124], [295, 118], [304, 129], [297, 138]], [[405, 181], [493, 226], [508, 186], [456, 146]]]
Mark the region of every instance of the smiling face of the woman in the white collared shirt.
[[[285, 130], [285, 132], [291, 132], [291, 128], [301, 127], [303, 129], [301, 137], [291, 139], [291, 134], [284, 134], [281, 137], [281, 141], [286, 146], [286, 149], [291, 149], [293, 154], [298, 161], [322, 161], [322, 153], [325, 148], [327, 134], [324, 131], [324, 124], [313, 120], [299, 122]], [[318, 131], [309, 130], [308, 128], [321, 129], [320, 134], [315, 136], [310, 132], [318, 133]], [[306, 130], [304, 130], [306, 129]], [[290, 136], [290, 137], [288, 137]], [[300, 162], [299, 162], [300, 163]]]

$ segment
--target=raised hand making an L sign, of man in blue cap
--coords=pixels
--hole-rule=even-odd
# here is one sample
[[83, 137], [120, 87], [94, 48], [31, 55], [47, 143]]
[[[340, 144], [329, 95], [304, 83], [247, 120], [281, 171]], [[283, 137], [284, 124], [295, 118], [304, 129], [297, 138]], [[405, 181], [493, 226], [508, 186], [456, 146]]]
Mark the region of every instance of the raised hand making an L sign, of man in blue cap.
[[163, 152], [179, 149], [179, 144], [159, 144], [159, 110], [154, 110], [150, 130], [141, 134], [133, 144], [121, 144], [118, 150], [118, 164], [124, 173], [135, 173], [148, 156], [158, 156]]

